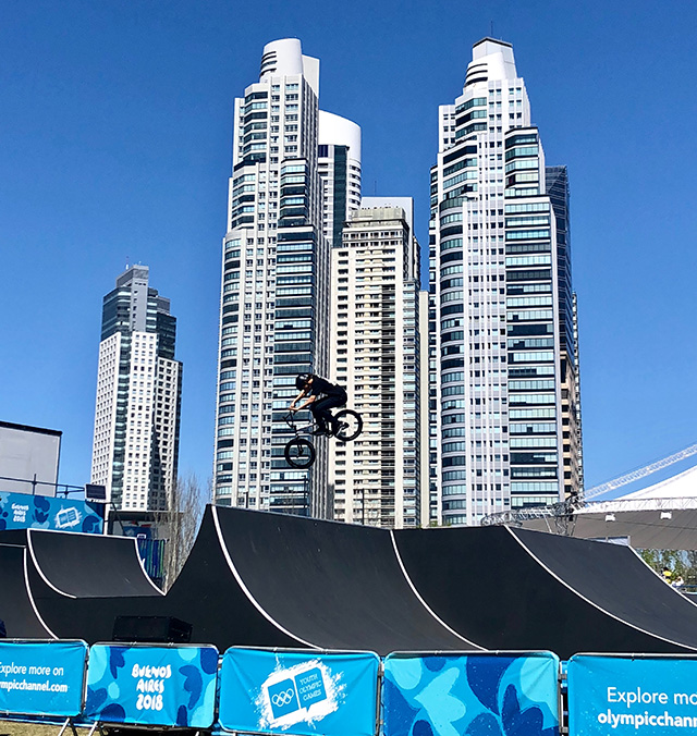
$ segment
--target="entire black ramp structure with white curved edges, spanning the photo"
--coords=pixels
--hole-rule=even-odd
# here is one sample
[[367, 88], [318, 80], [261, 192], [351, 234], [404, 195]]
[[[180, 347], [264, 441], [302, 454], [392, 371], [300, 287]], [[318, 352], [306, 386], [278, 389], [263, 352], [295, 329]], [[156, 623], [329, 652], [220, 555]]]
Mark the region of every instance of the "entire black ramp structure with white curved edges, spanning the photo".
[[[15, 599], [25, 612], [10, 636], [36, 636], [38, 621], [41, 636], [94, 642], [111, 638], [117, 616], [171, 616], [220, 650], [697, 651], [697, 606], [631, 549], [604, 542], [509, 527], [390, 531], [209, 506], [167, 596], [143, 594], [140, 582], [118, 588], [132, 582], [123, 575], [121, 592], [103, 596], [105, 581], [80, 582], [80, 572], [91, 579], [101, 568], [108, 581], [99, 560], [120, 560], [111, 540], [52, 538], [62, 533], [32, 533], [33, 554], [28, 539], [5, 553], [22, 574], [0, 586], [0, 616]], [[81, 545], [89, 545], [84, 565]], [[76, 569], [48, 562], [58, 549], [72, 551]]]

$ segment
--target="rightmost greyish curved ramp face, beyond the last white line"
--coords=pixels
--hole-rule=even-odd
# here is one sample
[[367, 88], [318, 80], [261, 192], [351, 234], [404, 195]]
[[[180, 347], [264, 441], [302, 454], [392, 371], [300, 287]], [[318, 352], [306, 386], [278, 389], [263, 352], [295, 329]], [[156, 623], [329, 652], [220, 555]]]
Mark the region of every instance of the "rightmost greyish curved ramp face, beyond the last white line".
[[631, 548], [524, 529], [512, 533], [554, 575], [608, 613], [697, 649], [697, 606], [661, 580]]

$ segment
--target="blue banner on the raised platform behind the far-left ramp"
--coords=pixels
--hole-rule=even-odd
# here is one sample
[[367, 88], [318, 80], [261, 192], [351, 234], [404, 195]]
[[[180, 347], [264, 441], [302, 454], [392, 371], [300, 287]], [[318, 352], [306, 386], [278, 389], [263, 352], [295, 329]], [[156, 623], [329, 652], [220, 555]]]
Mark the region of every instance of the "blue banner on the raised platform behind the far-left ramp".
[[101, 507], [49, 495], [0, 492], [0, 531], [29, 528], [100, 535], [103, 531]]

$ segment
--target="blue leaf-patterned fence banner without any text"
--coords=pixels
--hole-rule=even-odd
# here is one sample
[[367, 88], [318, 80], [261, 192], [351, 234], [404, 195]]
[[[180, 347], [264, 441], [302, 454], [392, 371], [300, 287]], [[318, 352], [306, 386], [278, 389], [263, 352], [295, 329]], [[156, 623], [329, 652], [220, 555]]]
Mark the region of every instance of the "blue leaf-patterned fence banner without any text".
[[558, 736], [559, 659], [551, 652], [390, 654], [384, 736]]

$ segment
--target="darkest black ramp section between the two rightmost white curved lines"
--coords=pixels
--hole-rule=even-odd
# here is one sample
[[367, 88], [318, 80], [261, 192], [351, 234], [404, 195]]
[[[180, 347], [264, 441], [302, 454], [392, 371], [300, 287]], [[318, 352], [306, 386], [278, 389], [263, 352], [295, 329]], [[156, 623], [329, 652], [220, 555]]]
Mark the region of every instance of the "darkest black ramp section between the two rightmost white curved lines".
[[[687, 651], [584, 600], [522, 547], [506, 527], [393, 533], [407, 575], [429, 606], [488, 649], [551, 650], [562, 659], [580, 651]], [[573, 541], [591, 543], [549, 537], [559, 550]], [[576, 565], [588, 564], [584, 550], [577, 549], [576, 554]], [[634, 594], [643, 593], [636, 590]]]

